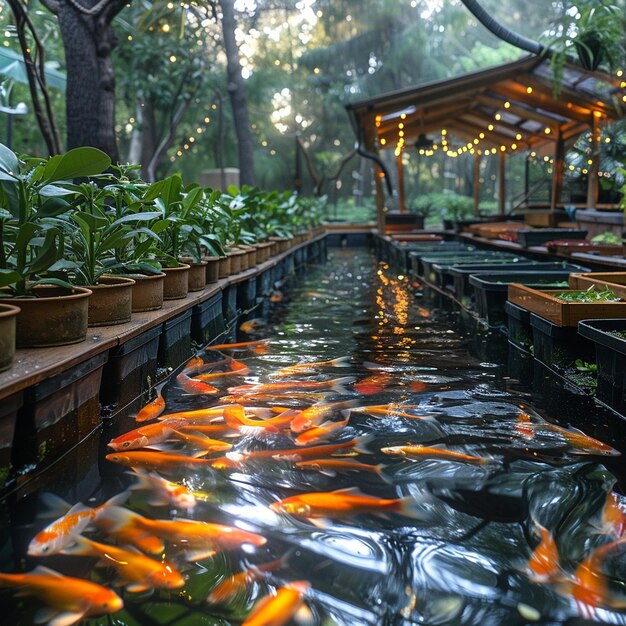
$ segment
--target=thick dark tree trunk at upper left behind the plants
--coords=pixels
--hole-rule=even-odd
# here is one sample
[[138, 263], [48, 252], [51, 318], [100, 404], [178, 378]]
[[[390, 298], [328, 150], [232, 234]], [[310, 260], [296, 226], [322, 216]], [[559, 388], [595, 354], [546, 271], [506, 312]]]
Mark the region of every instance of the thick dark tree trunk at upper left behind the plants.
[[42, 0], [59, 19], [67, 67], [67, 147], [94, 146], [119, 160], [115, 138], [113, 18], [126, 0]]

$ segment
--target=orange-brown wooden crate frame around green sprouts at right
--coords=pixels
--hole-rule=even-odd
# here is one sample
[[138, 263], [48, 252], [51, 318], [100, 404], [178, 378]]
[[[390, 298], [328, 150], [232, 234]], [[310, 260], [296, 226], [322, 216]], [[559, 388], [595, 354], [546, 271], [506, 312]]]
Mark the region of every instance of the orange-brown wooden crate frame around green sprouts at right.
[[[626, 317], [626, 302], [564, 302], [555, 294], [566, 289], [540, 291], [518, 283], [509, 285], [509, 302], [559, 326], [576, 326], [586, 319]], [[572, 290], [572, 291], [585, 291]]]

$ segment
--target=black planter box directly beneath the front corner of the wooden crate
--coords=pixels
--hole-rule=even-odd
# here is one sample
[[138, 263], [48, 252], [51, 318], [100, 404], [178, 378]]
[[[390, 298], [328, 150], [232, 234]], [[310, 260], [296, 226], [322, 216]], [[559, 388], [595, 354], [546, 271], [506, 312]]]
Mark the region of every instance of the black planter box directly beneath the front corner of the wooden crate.
[[574, 368], [577, 359], [593, 362], [594, 345], [581, 337], [576, 327], [559, 326], [534, 313], [530, 314], [530, 325], [534, 357], [557, 373]]

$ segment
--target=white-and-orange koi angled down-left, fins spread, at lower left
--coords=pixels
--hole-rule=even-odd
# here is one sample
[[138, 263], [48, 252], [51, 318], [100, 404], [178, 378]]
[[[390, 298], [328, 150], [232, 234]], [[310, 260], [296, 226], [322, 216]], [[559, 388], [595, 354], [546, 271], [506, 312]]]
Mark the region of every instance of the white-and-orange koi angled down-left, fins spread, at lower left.
[[[107, 508], [123, 504], [128, 499], [128, 492], [123, 491], [95, 508], [89, 508], [81, 502], [72, 506], [65, 515], [38, 532], [28, 544], [29, 556], [48, 556], [57, 554], [72, 540], [73, 535], [80, 534], [87, 526], [104, 514]], [[67, 506], [61, 498], [47, 496], [48, 501], [54, 499], [59, 506]]]

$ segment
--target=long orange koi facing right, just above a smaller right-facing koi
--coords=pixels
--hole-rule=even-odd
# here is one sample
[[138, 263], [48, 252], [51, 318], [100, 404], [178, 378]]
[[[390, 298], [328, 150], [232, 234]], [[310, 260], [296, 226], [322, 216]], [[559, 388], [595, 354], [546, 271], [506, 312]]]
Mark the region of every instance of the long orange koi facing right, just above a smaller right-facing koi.
[[106, 516], [113, 523], [114, 531], [130, 527], [181, 546], [187, 551], [189, 561], [208, 558], [218, 550], [240, 548], [242, 544], [260, 547], [267, 543], [262, 535], [224, 524], [185, 519], [152, 520], [121, 507], [111, 507]]

